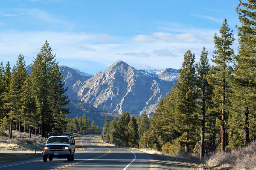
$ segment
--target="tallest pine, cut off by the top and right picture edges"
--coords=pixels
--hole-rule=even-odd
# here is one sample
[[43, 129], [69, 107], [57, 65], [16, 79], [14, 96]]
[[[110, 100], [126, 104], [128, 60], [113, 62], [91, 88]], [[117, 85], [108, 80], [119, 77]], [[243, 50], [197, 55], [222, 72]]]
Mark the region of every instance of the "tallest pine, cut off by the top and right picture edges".
[[[239, 14], [239, 20], [241, 26], [239, 31], [239, 55], [235, 57], [234, 63], [234, 75], [233, 75], [233, 89], [235, 97], [232, 100], [233, 106], [238, 105], [235, 110], [240, 117], [243, 117], [242, 126], [244, 131], [243, 144], [246, 145], [250, 142], [250, 132], [253, 132], [255, 127], [252, 122], [254, 119], [255, 107], [253, 101], [256, 97], [256, 4], [252, 0], [248, 0], [248, 3], [242, 3], [239, 0], [239, 5], [236, 10]], [[240, 103], [237, 100], [241, 101]], [[251, 126], [252, 125], [252, 126]], [[252, 128], [250, 128], [252, 127]], [[256, 134], [253, 135], [253, 141], [255, 141]]]

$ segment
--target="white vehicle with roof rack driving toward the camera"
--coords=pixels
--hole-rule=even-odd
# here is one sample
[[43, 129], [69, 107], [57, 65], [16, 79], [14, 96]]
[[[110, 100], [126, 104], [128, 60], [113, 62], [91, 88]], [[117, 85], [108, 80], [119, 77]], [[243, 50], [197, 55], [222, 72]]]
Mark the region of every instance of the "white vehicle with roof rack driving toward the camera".
[[75, 139], [73, 133], [54, 134], [48, 133], [49, 138], [44, 144], [43, 160], [52, 161], [53, 157], [67, 158], [67, 161], [73, 161], [75, 155]]

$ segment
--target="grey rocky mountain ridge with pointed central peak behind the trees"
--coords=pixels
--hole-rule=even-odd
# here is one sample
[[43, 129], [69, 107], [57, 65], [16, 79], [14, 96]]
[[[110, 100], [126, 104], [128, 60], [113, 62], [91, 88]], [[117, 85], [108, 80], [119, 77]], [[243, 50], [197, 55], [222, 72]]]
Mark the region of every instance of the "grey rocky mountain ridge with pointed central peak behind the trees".
[[[31, 67], [27, 67], [27, 72]], [[137, 70], [123, 61], [116, 61], [94, 76], [67, 66], [59, 66], [59, 69], [64, 87], [68, 87], [65, 95], [98, 111], [118, 114], [126, 111], [141, 114], [146, 111], [152, 115], [160, 99], [165, 98], [179, 78], [177, 69]], [[70, 112], [73, 115], [72, 110]]]

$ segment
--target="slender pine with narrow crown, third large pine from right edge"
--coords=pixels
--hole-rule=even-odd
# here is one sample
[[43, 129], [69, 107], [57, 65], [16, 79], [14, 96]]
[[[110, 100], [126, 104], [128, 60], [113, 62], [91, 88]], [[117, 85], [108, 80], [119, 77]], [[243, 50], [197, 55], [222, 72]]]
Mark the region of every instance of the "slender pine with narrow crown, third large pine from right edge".
[[200, 61], [196, 64], [196, 90], [198, 92], [198, 113], [201, 115], [201, 148], [200, 159], [204, 157], [204, 143], [205, 143], [205, 122], [209, 117], [207, 109], [212, 106], [212, 89], [208, 84], [207, 76], [209, 75], [210, 65], [207, 59], [208, 52], [205, 47], [201, 53]]

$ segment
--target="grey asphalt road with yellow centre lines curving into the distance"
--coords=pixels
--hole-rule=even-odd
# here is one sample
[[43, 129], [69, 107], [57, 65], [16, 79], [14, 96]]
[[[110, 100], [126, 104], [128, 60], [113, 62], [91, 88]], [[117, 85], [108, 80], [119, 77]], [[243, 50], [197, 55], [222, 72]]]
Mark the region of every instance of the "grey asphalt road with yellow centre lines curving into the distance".
[[0, 164], [0, 170], [149, 170], [148, 156], [136, 150], [116, 147], [101, 147], [93, 144], [93, 137], [84, 136], [81, 145], [86, 150], [76, 151], [75, 160], [53, 158], [43, 162], [42, 158]]

